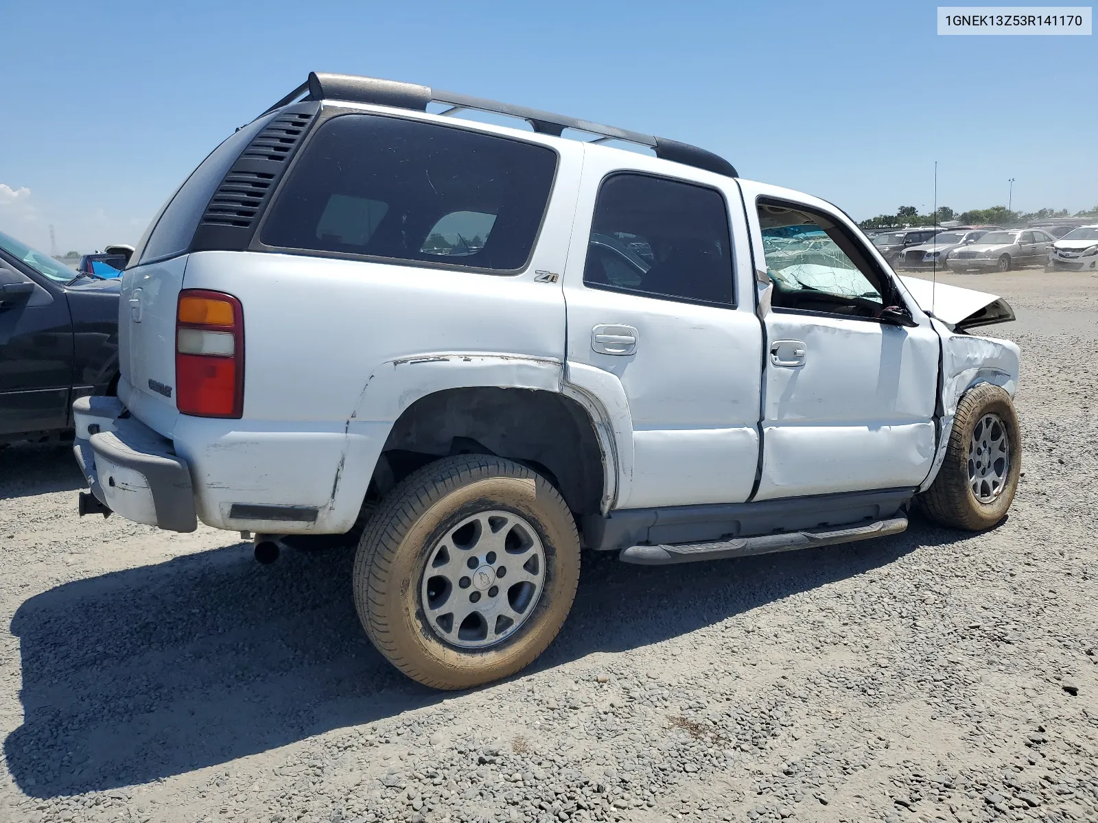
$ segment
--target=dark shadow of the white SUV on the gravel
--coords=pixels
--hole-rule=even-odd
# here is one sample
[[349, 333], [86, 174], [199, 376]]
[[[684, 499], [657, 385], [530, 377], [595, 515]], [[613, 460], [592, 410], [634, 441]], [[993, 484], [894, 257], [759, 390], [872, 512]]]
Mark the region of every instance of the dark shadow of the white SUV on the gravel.
[[[677, 636], [937, 538], [664, 568], [587, 557], [572, 616], [535, 665]], [[250, 545], [236, 544], [23, 602], [11, 629], [24, 722], [4, 741], [20, 789], [47, 798], [149, 782], [447, 697], [406, 679], [366, 640], [351, 561], [346, 550], [289, 552], [259, 566]]]

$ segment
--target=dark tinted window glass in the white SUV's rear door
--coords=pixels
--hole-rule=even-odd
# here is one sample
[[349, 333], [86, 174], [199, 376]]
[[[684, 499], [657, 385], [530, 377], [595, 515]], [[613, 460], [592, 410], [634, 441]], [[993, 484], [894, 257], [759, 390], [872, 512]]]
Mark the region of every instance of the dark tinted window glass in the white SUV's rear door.
[[731, 304], [724, 196], [648, 174], [610, 176], [595, 202], [583, 282], [649, 297]]

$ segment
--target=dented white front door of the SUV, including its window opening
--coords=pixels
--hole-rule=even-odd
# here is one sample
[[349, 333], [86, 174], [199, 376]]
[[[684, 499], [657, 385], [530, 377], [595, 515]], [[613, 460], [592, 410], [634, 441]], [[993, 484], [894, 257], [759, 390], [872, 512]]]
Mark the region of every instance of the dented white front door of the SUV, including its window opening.
[[[755, 499], [919, 485], [935, 446], [929, 318], [833, 206], [742, 187], [772, 283]], [[882, 322], [892, 305], [914, 325]]]

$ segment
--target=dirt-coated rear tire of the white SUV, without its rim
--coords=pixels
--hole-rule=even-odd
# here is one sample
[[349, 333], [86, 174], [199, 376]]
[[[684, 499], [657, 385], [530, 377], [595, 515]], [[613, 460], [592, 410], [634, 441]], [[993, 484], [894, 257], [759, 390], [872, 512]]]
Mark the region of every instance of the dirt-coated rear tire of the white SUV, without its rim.
[[[496, 645], [460, 649], [427, 623], [419, 587], [436, 542], [463, 518], [513, 510], [538, 532], [545, 583], [534, 612]], [[355, 608], [370, 641], [413, 680], [463, 689], [533, 662], [560, 631], [580, 579], [580, 538], [560, 493], [536, 472], [501, 458], [462, 454], [414, 472], [370, 518], [355, 559]]]

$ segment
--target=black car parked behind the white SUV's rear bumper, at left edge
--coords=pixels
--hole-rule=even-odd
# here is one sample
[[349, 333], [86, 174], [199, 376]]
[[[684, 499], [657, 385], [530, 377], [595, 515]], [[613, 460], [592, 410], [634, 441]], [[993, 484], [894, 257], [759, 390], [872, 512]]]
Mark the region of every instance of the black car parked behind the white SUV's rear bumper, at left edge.
[[0, 443], [72, 428], [72, 402], [113, 393], [119, 285], [0, 233]]

